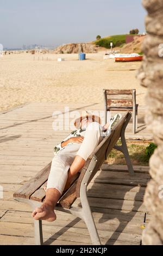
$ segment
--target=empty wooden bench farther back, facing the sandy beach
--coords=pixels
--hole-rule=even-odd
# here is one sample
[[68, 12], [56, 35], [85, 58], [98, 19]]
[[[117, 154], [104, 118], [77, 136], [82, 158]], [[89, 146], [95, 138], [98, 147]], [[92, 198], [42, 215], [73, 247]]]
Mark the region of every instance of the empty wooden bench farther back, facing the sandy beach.
[[106, 90], [104, 94], [105, 123], [107, 122], [108, 111], [132, 111], [133, 112], [133, 133], [137, 128], [136, 90]]

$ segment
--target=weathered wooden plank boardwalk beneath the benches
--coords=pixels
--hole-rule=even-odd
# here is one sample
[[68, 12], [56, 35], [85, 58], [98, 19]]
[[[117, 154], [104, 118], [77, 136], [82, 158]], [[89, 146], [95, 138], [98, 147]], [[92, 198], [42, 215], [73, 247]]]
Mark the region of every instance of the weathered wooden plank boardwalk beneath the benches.
[[[72, 104], [78, 109], [102, 110], [99, 104]], [[13, 192], [52, 160], [53, 146], [70, 131], [54, 131], [54, 111], [64, 113], [63, 104], [30, 103], [0, 115], [0, 245], [33, 245], [34, 222], [28, 205], [15, 202]], [[127, 139], [152, 139], [143, 122], [145, 107], [140, 107], [138, 133], [132, 135], [129, 124]], [[134, 166], [129, 176], [126, 166], [103, 164], [88, 187], [88, 196], [102, 244], [140, 245], [143, 224], [150, 215], [143, 205], [149, 180], [148, 167]], [[1, 196], [1, 194], [0, 194]], [[74, 204], [80, 204], [76, 200]], [[147, 217], [146, 217], [147, 216]], [[91, 240], [83, 221], [59, 212], [54, 223], [43, 222], [46, 245], [87, 245]]]

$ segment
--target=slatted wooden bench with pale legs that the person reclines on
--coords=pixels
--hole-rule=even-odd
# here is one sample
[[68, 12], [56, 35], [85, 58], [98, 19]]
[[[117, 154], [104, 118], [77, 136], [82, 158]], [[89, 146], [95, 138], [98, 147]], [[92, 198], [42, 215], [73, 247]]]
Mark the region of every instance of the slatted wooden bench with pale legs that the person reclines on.
[[[90, 205], [87, 199], [87, 185], [95, 176], [96, 172], [101, 168], [102, 163], [107, 159], [112, 148], [122, 151], [127, 162], [128, 170], [131, 175], [134, 174], [133, 166], [130, 161], [124, 132], [131, 118], [131, 113], [126, 112], [123, 117], [115, 125], [109, 136], [104, 137], [101, 143], [96, 147], [93, 153], [87, 159], [85, 166], [74, 178], [71, 187], [62, 194], [56, 210], [64, 211], [73, 214], [85, 221], [89, 230], [93, 245], [101, 245], [97, 233], [95, 222], [93, 221]], [[117, 145], [118, 139], [121, 138], [122, 145]], [[51, 163], [40, 170], [34, 178], [30, 179], [17, 192], [14, 193], [14, 198], [17, 201], [25, 202], [32, 206], [32, 210], [39, 207], [45, 199], [45, 191], [48, 175], [51, 169]], [[80, 198], [81, 207], [72, 206], [74, 200]], [[36, 245], [43, 244], [42, 236], [42, 221], [34, 221], [35, 226], [35, 243]]]

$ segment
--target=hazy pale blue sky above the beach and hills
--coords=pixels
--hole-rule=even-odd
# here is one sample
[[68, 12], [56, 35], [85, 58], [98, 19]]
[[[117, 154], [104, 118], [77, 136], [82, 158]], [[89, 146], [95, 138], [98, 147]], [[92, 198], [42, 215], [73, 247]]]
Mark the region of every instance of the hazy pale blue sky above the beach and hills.
[[0, 44], [57, 46], [96, 35], [145, 32], [141, 0], [1, 0]]

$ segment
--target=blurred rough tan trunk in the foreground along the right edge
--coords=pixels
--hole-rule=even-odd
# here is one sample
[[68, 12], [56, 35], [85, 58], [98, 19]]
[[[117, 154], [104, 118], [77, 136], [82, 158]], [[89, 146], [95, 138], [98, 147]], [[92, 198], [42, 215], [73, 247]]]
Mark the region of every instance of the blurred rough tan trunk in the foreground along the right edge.
[[[148, 11], [147, 36], [143, 42], [145, 58], [137, 75], [141, 85], [147, 87], [146, 123], [153, 133], [158, 149], [150, 160], [149, 182], [145, 204], [152, 220], [143, 231], [143, 245], [163, 245], [163, 57], [159, 57], [159, 45], [163, 44], [163, 1], [143, 0]], [[163, 49], [162, 49], [163, 53]]]

